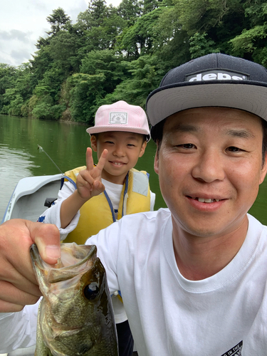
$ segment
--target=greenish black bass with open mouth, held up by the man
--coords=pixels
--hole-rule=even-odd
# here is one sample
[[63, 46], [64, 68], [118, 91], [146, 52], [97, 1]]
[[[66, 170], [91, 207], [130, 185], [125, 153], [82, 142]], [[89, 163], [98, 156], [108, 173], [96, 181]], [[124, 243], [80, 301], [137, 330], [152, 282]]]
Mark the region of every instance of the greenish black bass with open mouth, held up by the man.
[[61, 244], [56, 265], [37, 246], [31, 261], [43, 293], [36, 356], [117, 356], [117, 333], [105, 268], [96, 247]]

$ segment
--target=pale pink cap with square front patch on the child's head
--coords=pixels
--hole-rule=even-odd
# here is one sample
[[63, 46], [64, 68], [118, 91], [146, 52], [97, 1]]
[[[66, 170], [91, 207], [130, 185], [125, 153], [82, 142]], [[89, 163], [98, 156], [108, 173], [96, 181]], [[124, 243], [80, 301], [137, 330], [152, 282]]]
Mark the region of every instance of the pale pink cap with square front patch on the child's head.
[[86, 130], [90, 135], [107, 131], [135, 132], [146, 135], [147, 141], [150, 140], [145, 111], [140, 106], [129, 105], [123, 100], [100, 106], [95, 113], [95, 126]]

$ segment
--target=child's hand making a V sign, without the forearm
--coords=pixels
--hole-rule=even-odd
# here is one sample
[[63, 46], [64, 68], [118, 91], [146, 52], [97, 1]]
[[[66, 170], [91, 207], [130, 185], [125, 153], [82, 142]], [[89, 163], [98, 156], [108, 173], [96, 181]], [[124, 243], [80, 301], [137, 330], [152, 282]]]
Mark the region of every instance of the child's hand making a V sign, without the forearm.
[[86, 169], [80, 171], [77, 177], [76, 185], [80, 198], [86, 201], [95, 195], [98, 195], [105, 190], [104, 184], [101, 182], [101, 173], [105, 166], [105, 159], [108, 155], [108, 150], [104, 150], [94, 166], [92, 150], [88, 147], [86, 150]]

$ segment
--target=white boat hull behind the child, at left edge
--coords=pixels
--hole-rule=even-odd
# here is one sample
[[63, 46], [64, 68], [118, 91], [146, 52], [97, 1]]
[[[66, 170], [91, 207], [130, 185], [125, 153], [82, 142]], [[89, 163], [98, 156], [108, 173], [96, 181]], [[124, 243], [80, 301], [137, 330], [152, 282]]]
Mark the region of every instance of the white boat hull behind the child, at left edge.
[[51, 201], [58, 197], [62, 177], [63, 174], [53, 174], [22, 178], [11, 195], [2, 223], [18, 218], [37, 221]]

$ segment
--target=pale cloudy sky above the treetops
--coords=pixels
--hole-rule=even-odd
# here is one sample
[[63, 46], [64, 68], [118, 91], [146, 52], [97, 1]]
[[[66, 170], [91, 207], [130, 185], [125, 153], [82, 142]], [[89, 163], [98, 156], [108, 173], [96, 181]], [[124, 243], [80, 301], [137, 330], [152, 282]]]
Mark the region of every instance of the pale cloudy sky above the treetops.
[[[118, 6], [121, 0], [106, 0]], [[46, 17], [61, 7], [72, 23], [88, 0], [0, 0], [0, 63], [20, 66], [33, 58], [38, 38], [51, 29]]]

